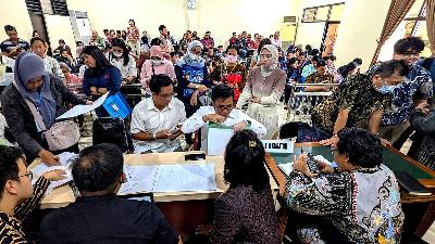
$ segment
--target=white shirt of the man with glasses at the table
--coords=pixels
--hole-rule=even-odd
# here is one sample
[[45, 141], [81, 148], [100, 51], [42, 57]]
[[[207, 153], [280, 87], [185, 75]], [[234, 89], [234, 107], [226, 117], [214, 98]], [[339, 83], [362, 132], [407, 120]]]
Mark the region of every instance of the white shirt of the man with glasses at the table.
[[[207, 151], [207, 127], [204, 126], [206, 123], [202, 120], [202, 116], [215, 113], [213, 106], [201, 106], [190, 118], [183, 123], [182, 131], [184, 133], [192, 133], [201, 128], [201, 150], [203, 151]], [[266, 129], [261, 123], [237, 108], [232, 110], [222, 125], [231, 127], [240, 121], [250, 121], [250, 129], [256, 132], [259, 138], [266, 133]]]

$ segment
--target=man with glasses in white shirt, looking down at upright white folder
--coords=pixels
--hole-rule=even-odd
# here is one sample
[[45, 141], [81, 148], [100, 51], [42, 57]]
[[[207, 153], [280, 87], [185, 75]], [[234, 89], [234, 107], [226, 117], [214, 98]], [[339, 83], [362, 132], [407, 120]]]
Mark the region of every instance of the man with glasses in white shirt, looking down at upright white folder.
[[240, 110], [234, 108], [234, 89], [226, 85], [219, 85], [212, 90], [213, 106], [201, 106], [184, 124], [182, 131], [192, 133], [201, 129], [201, 150], [207, 151], [207, 124], [219, 123], [232, 127], [234, 131], [250, 129], [259, 138], [266, 133], [266, 129], [256, 119]]

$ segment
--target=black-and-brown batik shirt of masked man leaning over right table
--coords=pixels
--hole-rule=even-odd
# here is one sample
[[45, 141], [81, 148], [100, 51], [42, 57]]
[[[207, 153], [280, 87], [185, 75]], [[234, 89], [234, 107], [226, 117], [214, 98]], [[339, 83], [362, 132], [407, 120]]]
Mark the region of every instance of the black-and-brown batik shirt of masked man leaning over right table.
[[349, 110], [346, 127], [355, 127], [374, 112], [388, 110], [390, 99], [373, 88], [371, 75], [359, 74], [341, 82], [332, 95], [315, 106], [311, 119], [316, 127], [332, 133], [339, 110]]

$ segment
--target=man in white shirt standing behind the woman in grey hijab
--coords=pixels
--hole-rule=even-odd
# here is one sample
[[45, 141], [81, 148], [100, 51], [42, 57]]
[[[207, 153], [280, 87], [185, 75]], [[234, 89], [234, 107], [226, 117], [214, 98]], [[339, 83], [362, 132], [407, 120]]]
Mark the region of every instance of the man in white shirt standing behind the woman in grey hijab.
[[47, 55], [47, 42], [40, 37], [34, 37], [30, 39], [32, 52], [40, 56], [44, 61], [45, 69], [48, 74], [55, 76], [57, 78], [65, 81], [65, 77], [59, 66], [59, 62], [53, 57]]

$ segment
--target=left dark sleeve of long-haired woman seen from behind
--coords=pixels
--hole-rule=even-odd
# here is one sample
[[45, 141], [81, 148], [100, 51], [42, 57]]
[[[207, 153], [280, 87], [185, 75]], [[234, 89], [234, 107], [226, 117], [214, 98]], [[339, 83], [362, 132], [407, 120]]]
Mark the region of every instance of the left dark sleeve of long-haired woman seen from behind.
[[241, 229], [239, 211], [227, 201], [216, 200], [214, 205], [213, 227], [210, 240], [213, 244], [232, 244], [234, 237]]

